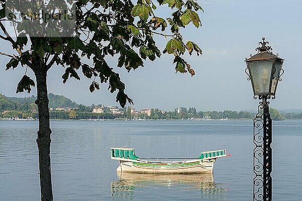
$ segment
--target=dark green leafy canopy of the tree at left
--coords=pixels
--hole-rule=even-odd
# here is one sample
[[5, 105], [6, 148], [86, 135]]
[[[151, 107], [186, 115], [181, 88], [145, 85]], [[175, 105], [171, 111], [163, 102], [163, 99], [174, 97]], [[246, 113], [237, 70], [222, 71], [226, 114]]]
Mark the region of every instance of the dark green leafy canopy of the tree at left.
[[[0, 38], [10, 42], [18, 52], [17, 55], [0, 52], [11, 57], [6, 65], [7, 70], [21, 65], [31, 68], [37, 74], [47, 72], [56, 64], [65, 68], [62, 75], [65, 83], [70, 77], [80, 80], [78, 73], [81, 69], [87, 78], [92, 79], [89, 87], [91, 92], [99, 89], [100, 83], [108, 82], [110, 92], [117, 91], [116, 101], [122, 107], [127, 101], [132, 103], [132, 99], [125, 94], [125, 84], [119, 74], [108, 64], [109, 57], [117, 55], [117, 67], [125, 67], [129, 72], [143, 66], [143, 60], [154, 61], [162, 53], [172, 54], [176, 72], [189, 72], [193, 76], [194, 70], [182, 55], [185, 52], [190, 55], [193, 52], [197, 55], [202, 53], [194, 42], [186, 41], [180, 33], [180, 28], [190, 23], [196, 28], [201, 26], [197, 12], [202, 11], [202, 8], [195, 0], [138, 0], [135, 5], [131, 0], [78, 0], [72, 7], [77, 19], [73, 37], [59, 37], [61, 33], [54, 30], [50, 30], [52, 37], [43, 37], [43, 29], [26, 28], [28, 23], [35, 23], [35, 19], [39, 18], [34, 11], [43, 9], [43, 5], [39, 5], [41, 1], [31, 1], [26, 18], [21, 22], [17, 19], [8, 20], [6, 12], [12, 12], [16, 8], [6, 7], [5, 0], [0, 2], [0, 28], [3, 31]], [[68, 5], [63, 2], [60, 1], [53, 8], [58, 11], [68, 10]], [[171, 17], [164, 19], [156, 16], [154, 11], [157, 7], [171, 8]], [[5, 21], [15, 23], [18, 35], [16, 40], [6, 32], [3, 24]], [[63, 30], [59, 27], [61, 25], [57, 26], [58, 30]], [[33, 31], [40, 31], [41, 37], [31, 37]], [[157, 47], [154, 35], [167, 38], [163, 51]], [[93, 65], [89, 65], [89, 62]], [[24, 75], [17, 92], [30, 92], [34, 85], [34, 81]]]

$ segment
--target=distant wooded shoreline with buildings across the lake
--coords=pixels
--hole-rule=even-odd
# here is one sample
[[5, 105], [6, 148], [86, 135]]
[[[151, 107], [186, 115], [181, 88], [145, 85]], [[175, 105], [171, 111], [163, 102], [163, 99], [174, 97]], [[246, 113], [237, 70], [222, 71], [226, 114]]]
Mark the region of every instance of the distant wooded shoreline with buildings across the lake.
[[[30, 96], [25, 98], [6, 97], [0, 94], [0, 118], [18, 117], [20, 119], [33, 118], [38, 119], [37, 106], [34, 103], [36, 97]], [[177, 108], [174, 111], [162, 112], [159, 109], [151, 109], [150, 115], [147, 114], [131, 114], [131, 108], [120, 109], [123, 114], [112, 114], [105, 107], [104, 113], [92, 113], [96, 105], [84, 106], [79, 105], [72, 100], [62, 96], [50, 93], [49, 102], [53, 108], [70, 107], [76, 108], [71, 111], [50, 111], [51, 119], [253, 119], [255, 114], [247, 111], [207, 111], [197, 112], [194, 107], [186, 109], [184, 107]], [[100, 106], [100, 105], [99, 105]], [[6, 112], [5, 112], [6, 111]], [[276, 109], [270, 108], [271, 118], [273, 120], [285, 119], [302, 119], [302, 113], [280, 113]]]

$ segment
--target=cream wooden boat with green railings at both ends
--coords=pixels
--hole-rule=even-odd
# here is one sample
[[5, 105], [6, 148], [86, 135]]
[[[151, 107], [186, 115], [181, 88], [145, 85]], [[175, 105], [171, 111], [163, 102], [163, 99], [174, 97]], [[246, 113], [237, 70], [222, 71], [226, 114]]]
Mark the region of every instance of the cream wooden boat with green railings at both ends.
[[110, 148], [111, 159], [118, 160], [117, 172], [133, 173], [209, 173], [217, 158], [226, 156], [226, 150], [201, 152], [198, 158], [139, 158], [132, 148]]

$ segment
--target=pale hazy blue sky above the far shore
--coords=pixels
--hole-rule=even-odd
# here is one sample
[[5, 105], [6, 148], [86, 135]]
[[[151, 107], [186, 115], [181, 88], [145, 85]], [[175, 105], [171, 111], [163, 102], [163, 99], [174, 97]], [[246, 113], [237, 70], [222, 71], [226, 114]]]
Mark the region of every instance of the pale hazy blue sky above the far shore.
[[[203, 56], [185, 56], [196, 75], [175, 73], [173, 57], [163, 55], [155, 62], [146, 61], [143, 68], [127, 73], [118, 68], [126, 93], [134, 100], [134, 108], [159, 108], [174, 110], [176, 107], [196, 107], [206, 110], [253, 110], [258, 100], [253, 99], [252, 86], [244, 70], [246, 57], [255, 54], [255, 48], [262, 37], [269, 41], [273, 53], [285, 59], [276, 99], [271, 107], [277, 109], [302, 109], [302, 85], [300, 62], [302, 44], [302, 1], [199, 1], [204, 9], [200, 14], [202, 27], [189, 26], [183, 30], [187, 40], [195, 41], [203, 50]], [[159, 38], [158, 47], [165, 45]], [[7, 52], [11, 45], [0, 41], [0, 51]], [[25, 68], [5, 71], [7, 58], [0, 57], [0, 92], [7, 96], [28, 96], [16, 94], [16, 86]], [[115, 59], [109, 63], [116, 66]], [[116, 67], [115, 67], [116, 69]], [[107, 84], [100, 91], [91, 93], [91, 80], [68, 79], [62, 83], [64, 68], [53, 67], [48, 73], [48, 90], [62, 94], [77, 103], [85, 105], [118, 105], [116, 93], [111, 94]], [[33, 74], [30, 72], [28, 75]], [[295, 93], [293, 93], [293, 91]], [[30, 95], [36, 95], [35, 88]]]

